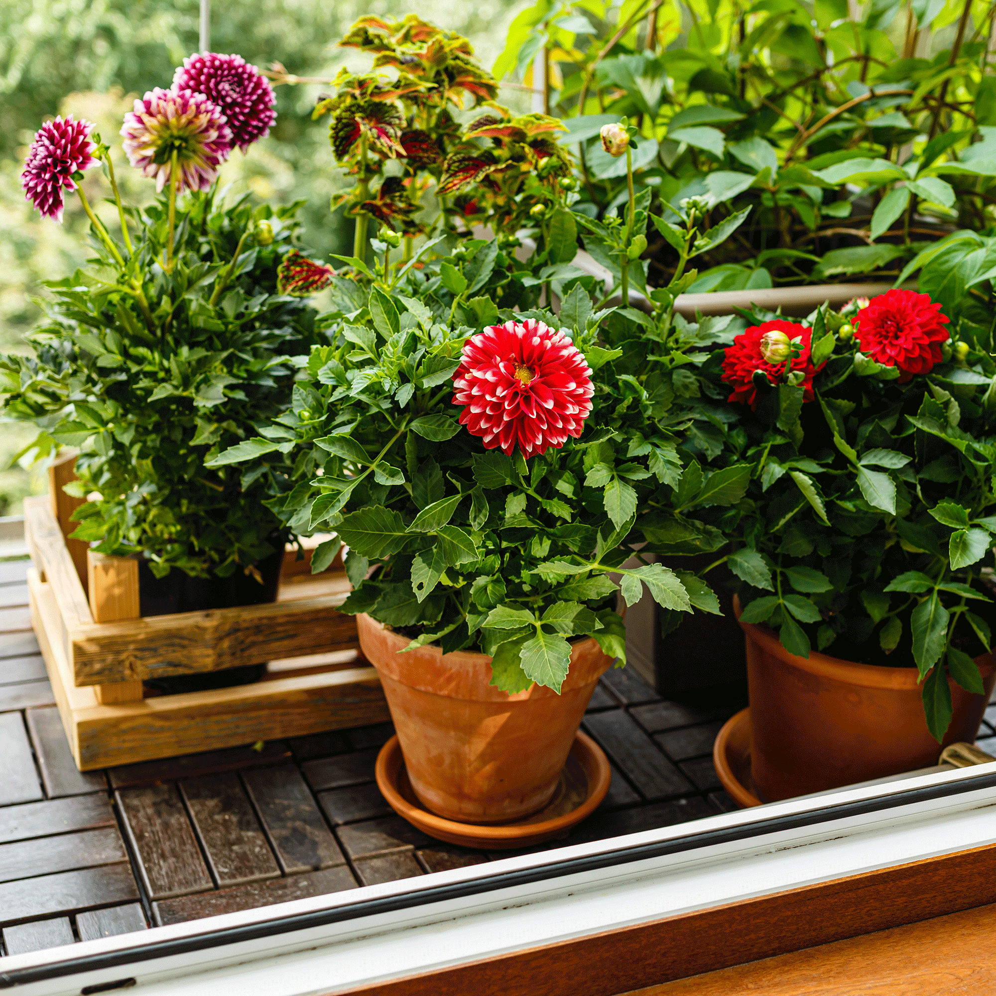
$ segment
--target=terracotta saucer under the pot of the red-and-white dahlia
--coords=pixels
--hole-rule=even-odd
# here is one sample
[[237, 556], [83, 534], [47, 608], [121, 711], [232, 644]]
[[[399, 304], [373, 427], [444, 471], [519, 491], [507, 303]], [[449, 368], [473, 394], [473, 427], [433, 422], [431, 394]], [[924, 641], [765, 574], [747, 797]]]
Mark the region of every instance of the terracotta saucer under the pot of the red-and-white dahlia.
[[553, 799], [547, 806], [518, 823], [482, 827], [445, 820], [425, 809], [408, 781], [396, 736], [380, 748], [376, 759], [377, 788], [398, 816], [438, 841], [488, 851], [525, 848], [565, 836], [572, 827], [591, 816], [606, 798], [611, 778], [612, 770], [602, 748], [579, 730]]

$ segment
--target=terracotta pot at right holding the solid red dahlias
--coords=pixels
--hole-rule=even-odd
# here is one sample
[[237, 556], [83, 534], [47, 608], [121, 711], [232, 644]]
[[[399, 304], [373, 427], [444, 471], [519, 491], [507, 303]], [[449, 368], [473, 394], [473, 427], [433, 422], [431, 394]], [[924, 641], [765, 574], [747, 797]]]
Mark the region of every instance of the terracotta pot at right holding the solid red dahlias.
[[[737, 617], [740, 602], [734, 601]], [[954, 716], [938, 744], [923, 718], [915, 667], [881, 667], [813, 651], [798, 657], [767, 626], [747, 637], [751, 775], [767, 802], [915, 771], [943, 746], [973, 743], [996, 684], [996, 659], [975, 658], [984, 695], [953, 681]]]

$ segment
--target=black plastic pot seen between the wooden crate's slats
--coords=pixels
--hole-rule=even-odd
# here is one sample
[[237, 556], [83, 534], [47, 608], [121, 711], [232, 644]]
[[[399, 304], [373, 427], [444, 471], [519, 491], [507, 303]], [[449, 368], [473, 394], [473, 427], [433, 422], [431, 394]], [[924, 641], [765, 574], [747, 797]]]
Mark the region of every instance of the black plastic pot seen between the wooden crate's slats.
[[[211, 609], [234, 609], [237, 606], [258, 606], [277, 601], [280, 569], [284, 562], [283, 537], [275, 535], [270, 542], [276, 549], [269, 557], [258, 561], [256, 569], [262, 583], [251, 574], [236, 571], [227, 578], [191, 578], [175, 568], [164, 578], [156, 578], [147, 561], [138, 562], [138, 611], [141, 616], [168, 616], [173, 613], [206, 612]], [[251, 684], [266, 673], [266, 664], [226, 667], [220, 671], [197, 674], [174, 674], [144, 682], [164, 695], [187, 691], [206, 691]]]

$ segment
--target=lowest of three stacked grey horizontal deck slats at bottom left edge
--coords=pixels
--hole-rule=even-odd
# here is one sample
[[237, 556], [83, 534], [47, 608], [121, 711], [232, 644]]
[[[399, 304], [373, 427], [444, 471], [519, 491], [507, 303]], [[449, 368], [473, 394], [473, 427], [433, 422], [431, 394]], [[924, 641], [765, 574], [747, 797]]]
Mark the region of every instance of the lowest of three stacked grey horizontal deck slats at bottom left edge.
[[137, 898], [138, 887], [125, 864], [19, 878], [0, 885], [0, 926], [116, 906]]

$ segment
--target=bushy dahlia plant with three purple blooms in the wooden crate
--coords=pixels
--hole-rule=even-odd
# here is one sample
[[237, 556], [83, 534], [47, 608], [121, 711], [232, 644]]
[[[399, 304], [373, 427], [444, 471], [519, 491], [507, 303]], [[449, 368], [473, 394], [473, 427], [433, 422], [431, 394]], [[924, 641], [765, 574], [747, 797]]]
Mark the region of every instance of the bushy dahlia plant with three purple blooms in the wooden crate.
[[[216, 186], [220, 162], [273, 123], [272, 104], [239, 57], [188, 59], [170, 90], [146, 94], [124, 121], [129, 160], [162, 191], [142, 209], [122, 202], [109, 147], [86, 122], [45, 124], [24, 171], [29, 199], [57, 220], [65, 191], [77, 191], [94, 258], [47, 284], [47, 315], [28, 337], [34, 356], [0, 360], [3, 412], [39, 425], [36, 455], [80, 450], [70, 487], [90, 500], [74, 536], [103, 553], [140, 554], [160, 577], [171, 568], [258, 575], [257, 562], [288, 538], [262, 502], [290, 463], [242, 475], [204, 467], [286, 406], [294, 354], [315, 341], [315, 311], [277, 289], [296, 207], [226, 205]], [[80, 186], [98, 164], [117, 237]]]

